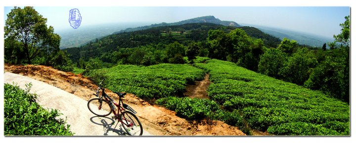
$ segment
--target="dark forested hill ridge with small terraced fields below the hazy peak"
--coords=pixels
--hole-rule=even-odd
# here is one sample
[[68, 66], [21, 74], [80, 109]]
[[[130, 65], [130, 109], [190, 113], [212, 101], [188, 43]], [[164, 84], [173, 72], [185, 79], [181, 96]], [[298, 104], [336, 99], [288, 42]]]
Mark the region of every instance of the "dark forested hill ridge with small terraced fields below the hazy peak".
[[[125, 48], [152, 47], [164, 48], [174, 42], [187, 46], [191, 41], [204, 42], [210, 30], [223, 30], [229, 33], [231, 30], [240, 28], [252, 38], [262, 39], [266, 47], [277, 47], [280, 44], [278, 38], [272, 37], [254, 27], [223, 26], [214, 23], [188, 23], [174, 26], [153, 27], [145, 30], [112, 34], [89, 42], [81, 47], [63, 49], [70, 54], [73, 62], [77, 63], [80, 58], [88, 61], [89, 58], [104, 57], [115, 51], [127, 50]], [[124, 54], [122, 56], [125, 56]], [[104, 62], [116, 63], [102, 58]]]

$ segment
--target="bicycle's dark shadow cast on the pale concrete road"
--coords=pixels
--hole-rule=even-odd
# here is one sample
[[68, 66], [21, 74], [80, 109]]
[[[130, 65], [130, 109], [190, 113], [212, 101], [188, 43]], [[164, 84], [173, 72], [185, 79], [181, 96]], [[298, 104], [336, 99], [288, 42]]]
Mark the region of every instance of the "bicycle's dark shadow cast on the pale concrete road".
[[[116, 134], [119, 136], [127, 135], [126, 131], [123, 130], [121, 123], [115, 122], [115, 120], [111, 118], [93, 116], [90, 118], [90, 121], [96, 125], [100, 125], [103, 127], [103, 131], [104, 131], [103, 136], [116, 135]], [[115, 126], [113, 127], [113, 125]]]

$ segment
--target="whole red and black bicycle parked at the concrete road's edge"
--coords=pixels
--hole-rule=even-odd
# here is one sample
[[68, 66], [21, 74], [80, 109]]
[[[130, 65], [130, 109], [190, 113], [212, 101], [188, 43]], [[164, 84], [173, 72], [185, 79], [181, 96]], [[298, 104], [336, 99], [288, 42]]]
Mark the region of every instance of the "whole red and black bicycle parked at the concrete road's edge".
[[[92, 98], [88, 101], [90, 112], [100, 117], [105, 117], [114, 113], [112, 118], [121, 122], [121, 125], [129, 135], [141, 136], [143, 133], [142, 125], [137, 116], [134, 115], [137, 112], [129, 105], [125, 104], [121, 99], [126, 93], [114, 92], [119, 96], [119, 104], [115, 103], [115, 101], [105, 93], [105, 88], [101, 87], [103, 81], [104, 80], [100, 82], [96, 94], [93, 94], [97, 96], [97, 98]], [[101, 95], [99, 94], [100, 90], [102, 90]], [[117, 113], [115, 112], [116, 107], [118, 108]]]

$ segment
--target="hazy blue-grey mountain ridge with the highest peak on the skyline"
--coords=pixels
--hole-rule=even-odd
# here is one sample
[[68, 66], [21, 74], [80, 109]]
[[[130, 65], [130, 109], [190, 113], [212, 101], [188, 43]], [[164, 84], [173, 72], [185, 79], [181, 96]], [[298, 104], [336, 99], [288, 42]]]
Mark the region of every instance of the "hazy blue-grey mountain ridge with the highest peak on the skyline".
[[196, 17], [192, 19], [187, 19], [179, 22], [174, 22], [174, 23], [160, 23], [160, 24], [152, 24], [148, 26], [141, 26], [141, 27], [136, 27], [136, 28], [127, 28], [125, 30], [117, 31], [114, 32], [113, 34], [118, 34], [118, 33], [123, 33], [123, 32], [132, 32], [132, 31], [137, 31], [137, 30], [144, 30], [144, 29], [149, 29], [153, 27], [161, 27], [161, 26], [174, 26], [174, 25], [183, 25], [183, 24], [188, 24], [188, 23], [214, 23], [214, 24], [220, 24], [223, 26], [233, 26], [233, 27], [240, 27], [239, 24], [233, 21], [221, 21], [218, 18], [215, 18], [214, 16], [202, 16], [202, 17]]

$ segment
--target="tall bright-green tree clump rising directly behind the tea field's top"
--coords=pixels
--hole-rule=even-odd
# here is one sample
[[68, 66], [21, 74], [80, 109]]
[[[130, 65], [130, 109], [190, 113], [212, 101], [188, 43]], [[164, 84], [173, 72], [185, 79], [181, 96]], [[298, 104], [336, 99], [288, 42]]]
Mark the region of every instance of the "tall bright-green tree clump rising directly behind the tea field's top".
[[209, 57], [228, 60], [251, 70], [258, 70], [258, 61], [263, 54], [261, 39], [251, 39], [242, 29], [226, 34], [222, 30], [210, 30], [207, 38]]

